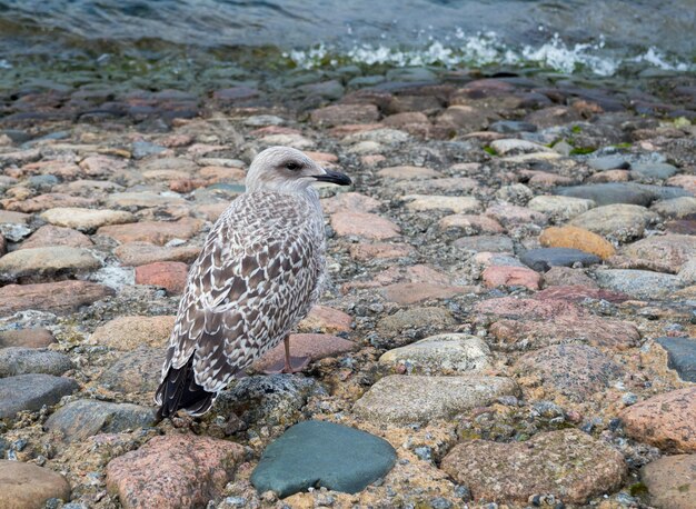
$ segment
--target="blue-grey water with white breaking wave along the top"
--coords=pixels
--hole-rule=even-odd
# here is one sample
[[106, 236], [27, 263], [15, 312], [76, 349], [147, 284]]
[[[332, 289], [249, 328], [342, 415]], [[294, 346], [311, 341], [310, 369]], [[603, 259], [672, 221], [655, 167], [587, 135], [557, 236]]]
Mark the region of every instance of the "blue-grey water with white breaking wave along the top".
[[0, 86], [230, 66], [694, 72], [695, 34], [696, 0], [0, 0]]

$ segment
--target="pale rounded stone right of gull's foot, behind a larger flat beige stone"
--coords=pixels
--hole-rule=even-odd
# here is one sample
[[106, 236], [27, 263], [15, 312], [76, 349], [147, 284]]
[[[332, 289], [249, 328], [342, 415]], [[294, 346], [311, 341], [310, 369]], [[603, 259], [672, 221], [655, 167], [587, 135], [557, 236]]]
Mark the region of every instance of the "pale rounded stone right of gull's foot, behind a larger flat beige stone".
[[379, 363], [419, 375], [475, 372], [490, 367], [490, 349], [477, 336], [437, 335], [389, 350]]

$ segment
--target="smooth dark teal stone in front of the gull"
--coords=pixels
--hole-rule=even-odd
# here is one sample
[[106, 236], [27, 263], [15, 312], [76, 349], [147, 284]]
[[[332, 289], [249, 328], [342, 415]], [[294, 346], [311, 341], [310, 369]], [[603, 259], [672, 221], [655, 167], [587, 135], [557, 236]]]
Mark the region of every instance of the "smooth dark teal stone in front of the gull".
[[357, 493], [396, 462], [386, 440], [346, 426], [305, 421], [274, 441], [251, 473], [259, 492], [285, 498], [308, 488]]

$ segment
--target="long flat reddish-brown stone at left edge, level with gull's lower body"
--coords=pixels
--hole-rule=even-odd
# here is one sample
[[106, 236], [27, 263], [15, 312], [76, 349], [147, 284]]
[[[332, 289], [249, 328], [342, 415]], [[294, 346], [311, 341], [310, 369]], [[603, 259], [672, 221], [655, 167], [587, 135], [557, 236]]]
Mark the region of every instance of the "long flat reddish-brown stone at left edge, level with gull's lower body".
[[39, 285], [8, 285], [0, 288], [0, 315], [34, 309], [54, 313], [77, 311], [115, 291], [87, 281], [59, 281]]

